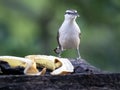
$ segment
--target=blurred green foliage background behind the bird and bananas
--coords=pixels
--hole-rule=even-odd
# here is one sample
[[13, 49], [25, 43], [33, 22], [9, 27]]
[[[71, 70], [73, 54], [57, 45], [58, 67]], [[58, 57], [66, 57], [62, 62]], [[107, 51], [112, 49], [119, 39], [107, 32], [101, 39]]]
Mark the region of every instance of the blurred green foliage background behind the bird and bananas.
[[[66, 9], [76, 9], [82, 58], [102, 70], [120, 71], [120, 0], [0, 0], [0, 55], [56, 55]], [[67, 50], [62, 57], [76, 57]]]

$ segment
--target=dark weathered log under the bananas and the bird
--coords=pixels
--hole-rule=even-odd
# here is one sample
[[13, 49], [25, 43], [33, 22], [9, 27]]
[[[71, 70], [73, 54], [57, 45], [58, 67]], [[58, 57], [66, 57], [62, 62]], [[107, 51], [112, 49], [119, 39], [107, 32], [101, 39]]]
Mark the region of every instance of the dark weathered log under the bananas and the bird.
[[103, 72], [85, 60], [72, 60], [64, 76], [1, 75], [0, 90], [120, 90], [120, 73]]

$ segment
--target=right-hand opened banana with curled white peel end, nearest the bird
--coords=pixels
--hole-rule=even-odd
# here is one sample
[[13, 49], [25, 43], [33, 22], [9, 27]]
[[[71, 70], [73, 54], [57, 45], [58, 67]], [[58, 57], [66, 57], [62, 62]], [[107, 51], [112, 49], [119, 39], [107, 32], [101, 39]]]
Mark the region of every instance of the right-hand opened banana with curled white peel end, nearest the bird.
[[34, 60], [39, 67], [52, 70], [51, 75], [67, 75], [74, 70], [68, 59], [47, 55], [28, 55], [25, 58]]

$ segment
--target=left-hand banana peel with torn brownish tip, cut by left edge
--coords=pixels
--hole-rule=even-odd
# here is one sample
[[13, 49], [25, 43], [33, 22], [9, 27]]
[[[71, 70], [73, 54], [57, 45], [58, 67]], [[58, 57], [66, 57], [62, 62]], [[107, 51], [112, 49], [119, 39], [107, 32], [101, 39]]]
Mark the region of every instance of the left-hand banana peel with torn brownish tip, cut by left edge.
[[0, 56], [0, 61], [7, 62], [12, 68], [22, 66], [24, 67], [25, 75], [43, 75], [46, 72], [46, 69], [43, 68], [41, 72], [36, 68], [36, 63], [33, 60], [15, 57], [15, 56]]

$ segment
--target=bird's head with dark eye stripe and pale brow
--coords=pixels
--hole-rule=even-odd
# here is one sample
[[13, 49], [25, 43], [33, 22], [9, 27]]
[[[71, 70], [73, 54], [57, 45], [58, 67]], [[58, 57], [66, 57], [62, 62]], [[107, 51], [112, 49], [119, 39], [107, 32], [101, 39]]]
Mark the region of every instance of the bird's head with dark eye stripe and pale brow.
[[65, 12], [65, 19], [76, 19], [79, 17], [79, 14], [77, 13], [76, 10], [66, 10]]

